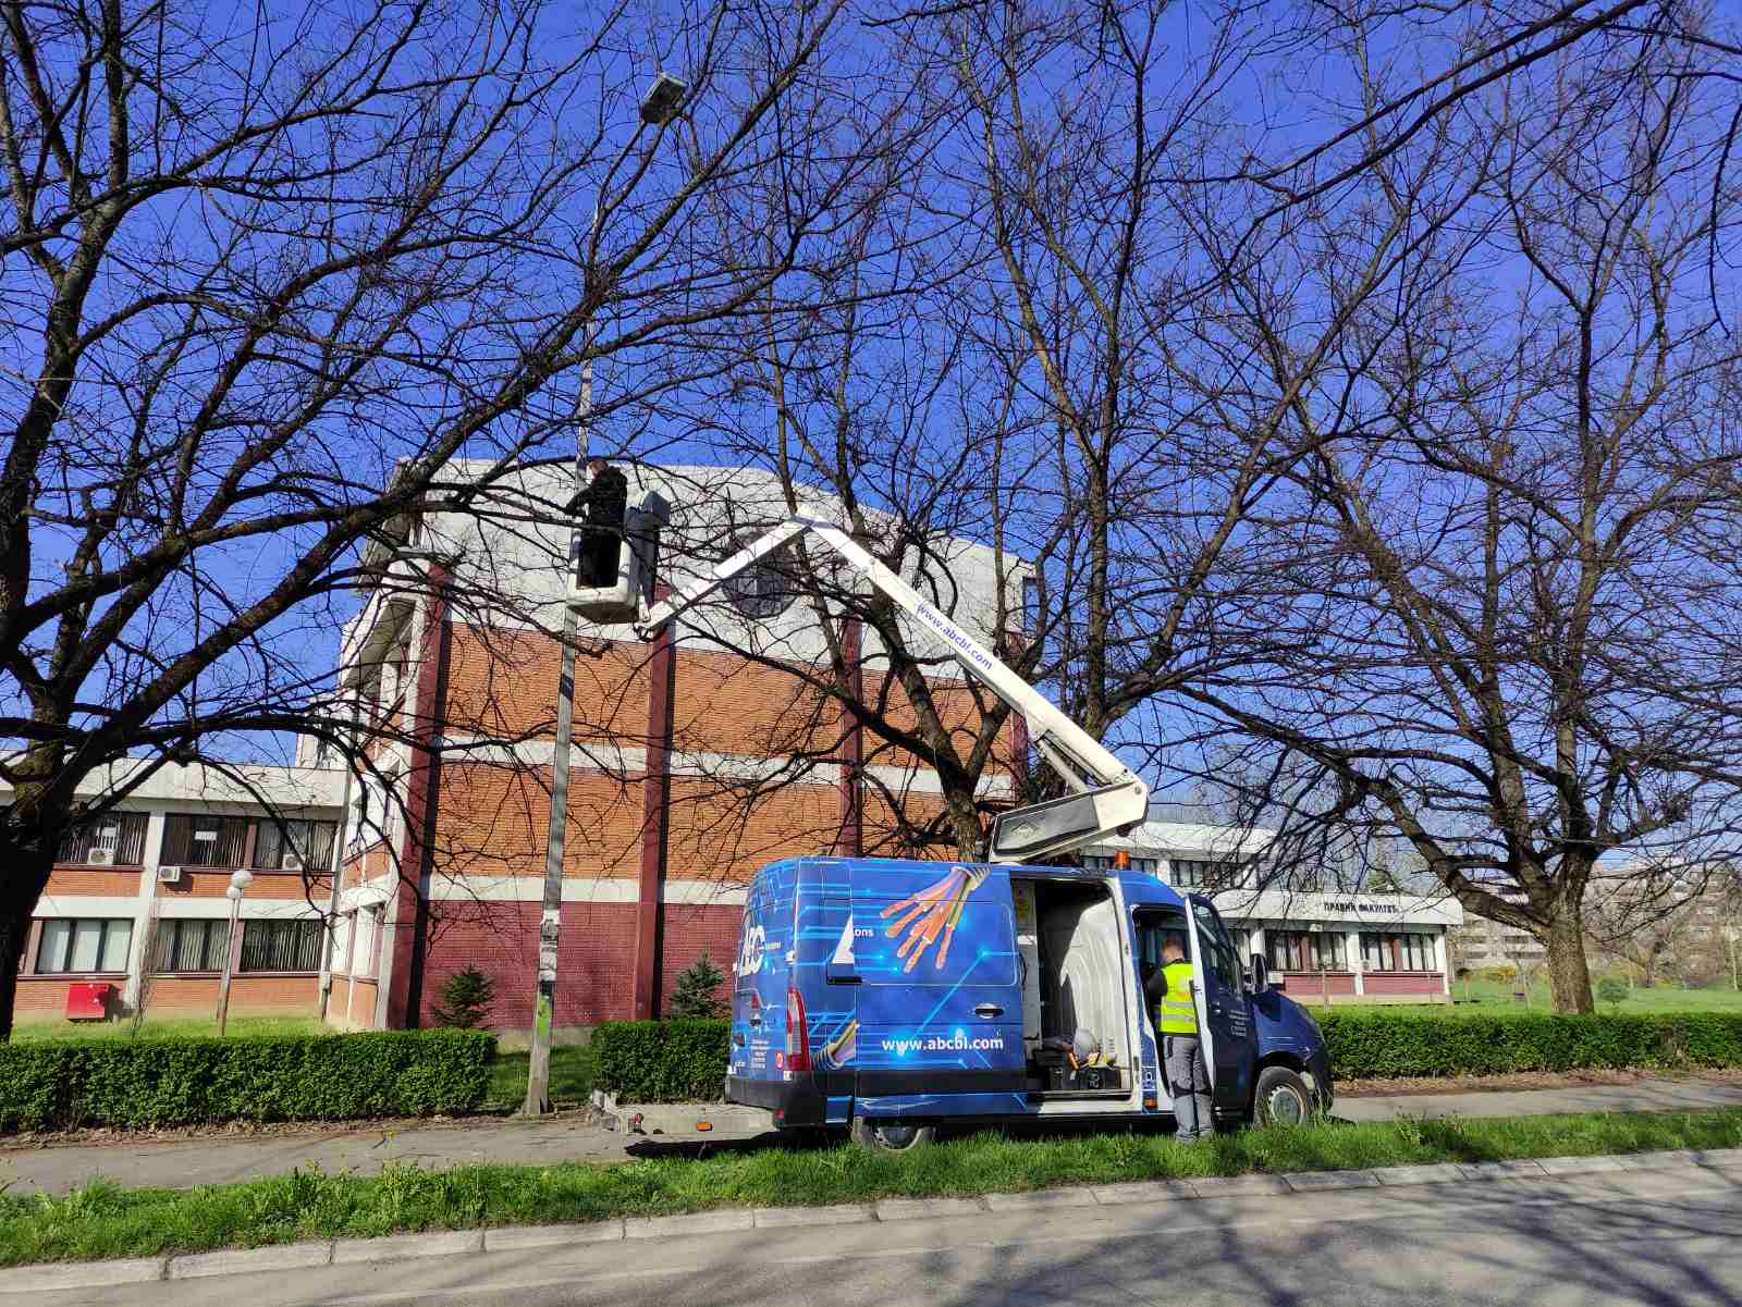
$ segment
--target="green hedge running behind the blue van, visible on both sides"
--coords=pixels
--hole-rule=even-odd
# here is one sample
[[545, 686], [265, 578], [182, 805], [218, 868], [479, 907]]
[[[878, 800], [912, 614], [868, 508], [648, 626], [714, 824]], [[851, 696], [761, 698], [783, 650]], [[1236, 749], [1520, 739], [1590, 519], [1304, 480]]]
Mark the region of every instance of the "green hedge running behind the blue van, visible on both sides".
[[[1341, 1081], [1742, 1067], [1737, 1013], [1441, 1016], [1336, 1008], [1313, 1016]], [[726, 1046], [728, 1022], [606, 1022], [592, 1034], [599, 1088], [636, 1103], [718, 1098]]]

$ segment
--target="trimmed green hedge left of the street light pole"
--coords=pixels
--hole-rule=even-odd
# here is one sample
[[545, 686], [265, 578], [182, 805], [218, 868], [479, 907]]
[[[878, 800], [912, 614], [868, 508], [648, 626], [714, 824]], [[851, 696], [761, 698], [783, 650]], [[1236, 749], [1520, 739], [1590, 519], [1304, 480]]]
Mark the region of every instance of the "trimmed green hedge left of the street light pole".
[[477, 1030], [0, 1044], [0, 1129], [470, 1112], [495, 1053]]

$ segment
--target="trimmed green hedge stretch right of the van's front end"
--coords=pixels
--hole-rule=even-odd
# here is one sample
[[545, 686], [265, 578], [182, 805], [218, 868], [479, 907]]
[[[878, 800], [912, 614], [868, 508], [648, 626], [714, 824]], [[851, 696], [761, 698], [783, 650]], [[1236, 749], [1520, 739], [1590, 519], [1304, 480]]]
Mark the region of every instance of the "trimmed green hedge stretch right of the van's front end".
[[1742, 1067], [1742, 1015], [1315, 1013], [1338, 1079]]

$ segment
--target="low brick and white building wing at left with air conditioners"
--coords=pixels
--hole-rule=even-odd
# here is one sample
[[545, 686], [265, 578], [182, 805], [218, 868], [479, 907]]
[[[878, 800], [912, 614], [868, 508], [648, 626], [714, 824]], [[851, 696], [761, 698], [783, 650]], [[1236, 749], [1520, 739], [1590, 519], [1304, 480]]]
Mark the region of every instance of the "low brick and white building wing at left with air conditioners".
[[[98, 773], [80, 794], [124, 788], [141, 766]], [[141, 997], [162, 1016], [211, 1015], [226, 959], [230, 1011], [314, 1013], [341, 785], [340, 771], [310, 767], [157, 767], [63, 841], [31, 919], [16, 1018], [64, 1016], [73, 985], [94, 985], [108, 1015]], [[254, 879], [232, 933], [235, 870]]]

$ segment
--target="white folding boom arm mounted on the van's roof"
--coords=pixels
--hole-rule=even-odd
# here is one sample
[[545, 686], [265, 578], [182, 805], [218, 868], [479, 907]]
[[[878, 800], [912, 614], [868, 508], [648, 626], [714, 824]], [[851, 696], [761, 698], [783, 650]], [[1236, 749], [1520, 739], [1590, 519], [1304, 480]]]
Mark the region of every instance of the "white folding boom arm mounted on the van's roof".
[[871, 585], [916, 616], [949, 646], [969, 675], [1003, 700], [1028, 722], [1028, 738], [1052, 764], [1071, 794], [1028, 808], [1012, 808], [993, 818], [986, 860], [995, 863], [1033, 861], [1070, 853], [1111, 834], [1125, 834], [1150, 811], [1150, 787], [1097, 740], [1059, 712], [1040, 691], [927, 602], [918, 590], [873, 559], [836, 526], [810, 517], [789, 517], [768, 534], [718, 564], [678, 593], [643, 611], [634, 623], [643, 639], [681, 616], [758, 559], [773, 553], [794, 536], [810, 533], [840, 553]]

